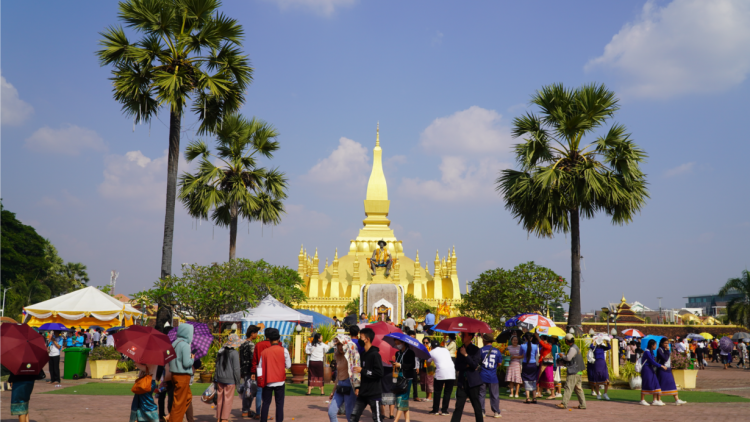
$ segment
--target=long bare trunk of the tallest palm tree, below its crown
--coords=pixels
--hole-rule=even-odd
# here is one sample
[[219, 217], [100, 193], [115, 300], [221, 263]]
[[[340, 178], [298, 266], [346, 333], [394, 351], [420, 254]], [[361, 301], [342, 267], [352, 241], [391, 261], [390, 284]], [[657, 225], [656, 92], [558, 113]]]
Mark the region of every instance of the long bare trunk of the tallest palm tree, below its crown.
[[[180, 161], [180, 126], [182, 114], [172, 110], [169, 113], [169, 155], [167, 157], [167, 206], [164, 215], [164, 239], [161, 248], [161, 278], [172, 275], [172, 243], [174, 241], [174, 207], [177, 198], [177, 165]], [[156, 329], [164, 327], [169, 319], [166, 304], [159, 304], [156, 315]]]

